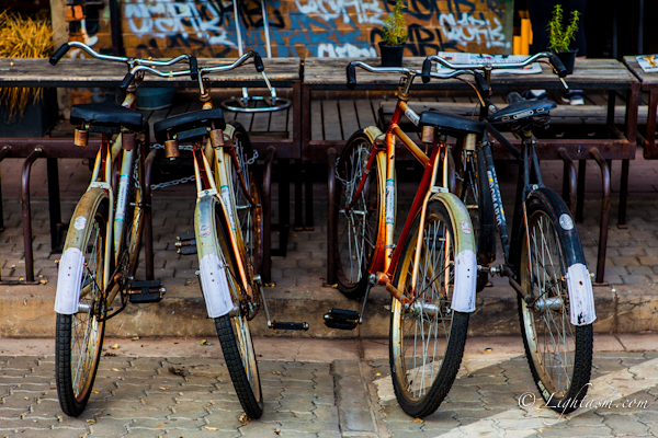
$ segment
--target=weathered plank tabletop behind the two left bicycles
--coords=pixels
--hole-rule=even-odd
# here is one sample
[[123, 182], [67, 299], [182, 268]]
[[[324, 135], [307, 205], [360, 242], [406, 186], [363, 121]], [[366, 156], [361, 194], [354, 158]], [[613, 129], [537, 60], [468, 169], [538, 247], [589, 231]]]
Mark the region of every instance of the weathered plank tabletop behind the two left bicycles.
[[[200, 58], [198, 67], [230, 64], [234, 59]], [[268, 79], [276, 87], [291, 87], [299, 80], [299, 58], [263, 58]], [[181, 64], [180, 69], [185, 69]], [[177, 66], [172, 66], [173, 69]], [[161, 71], [169, 71], [161, 69]], [[117, 87], [128, 72], [127, 65], [99, 59], [61, 59], [50, 66], [45, 58], [0, 58], [0, 87]], [[207, 76], [222, 87], [265, 87], [253, 64]], [[160, 78], [146, 74], [140, 87], [195, 87], [189, 77]]]

